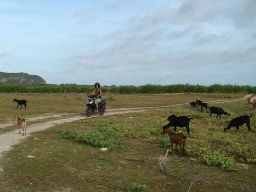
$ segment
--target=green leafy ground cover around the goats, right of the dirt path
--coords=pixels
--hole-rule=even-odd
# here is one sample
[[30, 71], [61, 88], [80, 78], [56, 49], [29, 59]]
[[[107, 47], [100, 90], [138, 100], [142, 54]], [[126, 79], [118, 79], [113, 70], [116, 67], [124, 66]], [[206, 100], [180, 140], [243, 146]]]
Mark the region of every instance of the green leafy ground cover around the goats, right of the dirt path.
[[[218, 104], [216, 104], [218, 105]], [[224, 170], [233, 170], [233, 164], [238, 162], [256, 162], [256, 142], [253, 133], [248, 133], [247, 127], [241, 127], [242, 134], [235, 134], [235, 127], [229, 133], [224, 133], [224, 127], [231, 118], [252, 113], [252, 132], [255, 127], [255, 113], [248, 112], [248, 106], [243, 102], [222, 104], [226, 111], [231, 112], [231, 117], [222, 118], [209, 117], [207, 110], [190, 109], [189, 106], [177, 106], [172, 108], [171, 114], [178, 116], [186, 115], [194, 117], [190, 123], [191, 136], [187, 138], [185, 155], [194, 162], [206, 163], [208, 165], [219, 166]], [[111, 117], [104, 121], [91, 122], [95, 127], [108, 127], [127, 138], [143, 139], [153, 144], [162, 144], [169, 147], [169, 137], [161, 136], [162, 125], [169, 115], [169, 110], [151, 111], [132, 115], [128, 118]], [[139, 119], [139, 121], [138, 121]], [[89, 123], [89, 120], [81, 120], [80, 123]], [[173, 127], [171, 127], [173, 129]], [[178, 131], [185, 131], [179, 128]]]

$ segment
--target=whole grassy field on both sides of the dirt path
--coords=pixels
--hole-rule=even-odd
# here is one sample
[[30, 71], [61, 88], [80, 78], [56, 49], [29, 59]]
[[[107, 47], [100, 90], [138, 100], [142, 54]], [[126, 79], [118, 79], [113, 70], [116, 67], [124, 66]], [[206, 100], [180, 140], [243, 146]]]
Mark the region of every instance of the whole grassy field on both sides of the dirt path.
[[[106, 94], [106, 98], [114, 99], [108, 101], [108, 109], [163, 106], [196, 99], [232, 100], [243, 96]], [[15, 97], [29, 101], [27, 110], [16, 110], [16, 104], [12, 103]], [[46, 113], [82, 115], [86, 102], [83, 94], [0, 94], [0, 99], [7, 101], [0, 104], [6, 112], [1, 114], [1, 123], [13, 121], [17, 112], [25, 117]], [[0, 187], [3, 191], [253, 191], [256, 188], [256, 113], [245, 103], [209, 104], [231, 114], [218, 119], [216, 115], [210, 118], [208, 110], [190, 109], [187, 104], [82, 119], [33, 133], [0, 159]], [[169, 139], [161, 135], [161, 127], [167, 124], [165, 119], [170, 113], [194, 118], [190, 122], [191, 136], [186, 141], [184, 158], [176, 151], [176, 156], [169, 153], [164, 158]], [[253, 115], [251, 133], [246, 132], [245, 126], [240, 127], [242, 134], [236, 134], [235, 127], [228, 134], [223, 133], [232, 118], [250, 114]], [[92, 130], [108, 132], [119, 142], [111, 145], [112, 151], [100, 151], [101, 147], [93, 144], [60, 139], [61, 133], [67, 130], [81, 134]], [[185, 128], [177, 130], [186, 135]]]

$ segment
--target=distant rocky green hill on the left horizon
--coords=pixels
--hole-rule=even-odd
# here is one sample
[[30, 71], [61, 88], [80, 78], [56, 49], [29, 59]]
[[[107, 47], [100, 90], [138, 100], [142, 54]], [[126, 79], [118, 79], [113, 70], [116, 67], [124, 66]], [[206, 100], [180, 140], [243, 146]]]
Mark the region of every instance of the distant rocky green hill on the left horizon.
[[6, 84], [46, 84], [45, 79], [38, 75], [27, 73], [4, 73], [0, 72], [0, 83]]

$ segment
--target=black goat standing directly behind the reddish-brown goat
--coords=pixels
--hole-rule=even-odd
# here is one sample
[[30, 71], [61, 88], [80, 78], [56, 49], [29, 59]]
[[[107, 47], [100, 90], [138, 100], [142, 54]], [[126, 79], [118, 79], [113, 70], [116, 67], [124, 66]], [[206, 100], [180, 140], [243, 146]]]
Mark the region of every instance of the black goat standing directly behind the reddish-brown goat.
[[189, 135], [189, 121], [193, 118], [188, 118], [187, 116], [180, 116], [177, 117], [177, 115], [170, 115], [167, 118], [167, 121], [169, 123], [167, 125], [164, 125], [163, 128], [169, 128], [170, 126], [174, 126], [174, 132], [176, 132], [176, 127], [186, 127], [187, 134]]

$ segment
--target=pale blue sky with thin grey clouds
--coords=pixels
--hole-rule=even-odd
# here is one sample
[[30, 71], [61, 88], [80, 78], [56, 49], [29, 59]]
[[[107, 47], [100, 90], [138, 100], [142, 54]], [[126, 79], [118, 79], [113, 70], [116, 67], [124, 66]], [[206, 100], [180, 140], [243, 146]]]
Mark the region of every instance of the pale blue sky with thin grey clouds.
[[255, 0], [0, 0], [0, 71], [49, 84], [256, 86]]

